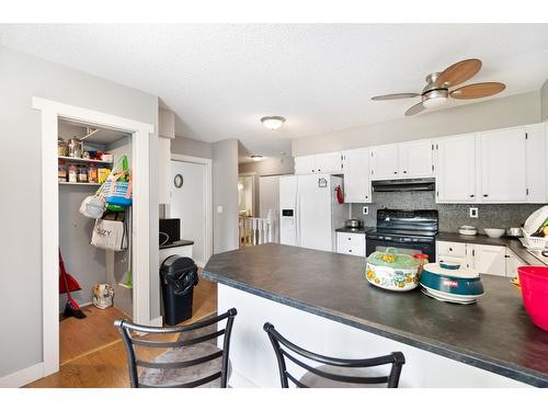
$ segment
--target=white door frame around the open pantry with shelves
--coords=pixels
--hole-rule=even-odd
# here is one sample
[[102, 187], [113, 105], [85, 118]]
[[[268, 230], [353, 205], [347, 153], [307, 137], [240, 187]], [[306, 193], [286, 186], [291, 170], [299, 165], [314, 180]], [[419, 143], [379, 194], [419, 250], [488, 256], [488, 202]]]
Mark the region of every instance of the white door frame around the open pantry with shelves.
[[[150, 319], [150, 135], [152, 124], [110, 115], [56, 101], [33, 98], [42, 112], [42, 310], [43, 376], [59, 370], [59, 192], [57, 180], [58, 118], [132, 133], [134, 321]], [[156, 246], [156, 244], [155, 244]], [[156, 250], [156, 248], [155, 248]]]

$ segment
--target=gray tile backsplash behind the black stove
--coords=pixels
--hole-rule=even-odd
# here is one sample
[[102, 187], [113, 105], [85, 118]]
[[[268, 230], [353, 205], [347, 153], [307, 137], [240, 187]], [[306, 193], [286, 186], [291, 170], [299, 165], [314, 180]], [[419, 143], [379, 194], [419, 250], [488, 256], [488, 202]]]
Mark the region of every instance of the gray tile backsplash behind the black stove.
[[[352, 218], [358, 218], [366, 227], [375, 227], [377, 209], [437, 209], [439, 231], [457, 231], [463, 225], [482, 228], [521, 227], [527, 217], [543, 204], [436, 204], [434, 192], [373, 193], [372, 204], [352, 204]], [[362, 206], [369, 214], [362, 214]], [[478, 208], [478, 218], [469, 217], [469, 208]]]

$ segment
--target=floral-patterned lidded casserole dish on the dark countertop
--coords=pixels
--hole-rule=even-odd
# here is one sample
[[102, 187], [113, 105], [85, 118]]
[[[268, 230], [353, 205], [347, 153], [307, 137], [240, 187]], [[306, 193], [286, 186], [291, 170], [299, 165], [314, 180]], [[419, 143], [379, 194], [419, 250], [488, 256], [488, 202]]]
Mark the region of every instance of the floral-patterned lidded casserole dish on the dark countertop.
[[419, 285], [419, 262], [396, 249], [375, 251], [367, 258], [365, 277], [373, 285], [392, 292], [409, 292]]

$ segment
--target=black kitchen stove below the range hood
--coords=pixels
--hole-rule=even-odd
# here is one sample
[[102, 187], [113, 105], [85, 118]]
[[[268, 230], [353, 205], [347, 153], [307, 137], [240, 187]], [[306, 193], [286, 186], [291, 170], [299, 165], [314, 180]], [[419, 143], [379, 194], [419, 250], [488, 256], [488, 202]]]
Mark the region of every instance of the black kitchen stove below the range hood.
[[437, 210], [377, 210], [377, 229], [366, 233], [366, 255], [396, 248], [398, 253], [427, 254], [435, 260]]

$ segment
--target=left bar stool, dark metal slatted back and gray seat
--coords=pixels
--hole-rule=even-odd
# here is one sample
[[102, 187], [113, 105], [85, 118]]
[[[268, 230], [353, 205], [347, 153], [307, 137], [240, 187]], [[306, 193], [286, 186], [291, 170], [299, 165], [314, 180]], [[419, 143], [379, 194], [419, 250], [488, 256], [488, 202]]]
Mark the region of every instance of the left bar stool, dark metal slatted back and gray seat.
[[[114, 321], [126, 347], [132, 388], [226, 388], [230, 374], [230, 333], [236, 315], [237, 310], [231, 308], [220, 316], [179, 327], [139, 326], [124, 319]], [[222, 320], [227, 320], [225, 328], [217, 330], [215, 326]], [[164, 342], [146, 340], [139, 333], [181, 335], [178, 341]], [[222, 349], [219, 349], [216, 340], [221, 335]], [[150, 362], [137, 357], [136, 345], [168, 350]], [[140, 375], [137, 367], [144, 368]]]

